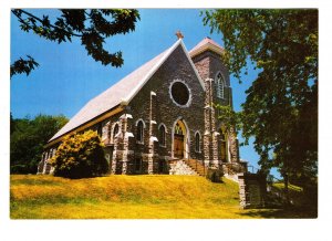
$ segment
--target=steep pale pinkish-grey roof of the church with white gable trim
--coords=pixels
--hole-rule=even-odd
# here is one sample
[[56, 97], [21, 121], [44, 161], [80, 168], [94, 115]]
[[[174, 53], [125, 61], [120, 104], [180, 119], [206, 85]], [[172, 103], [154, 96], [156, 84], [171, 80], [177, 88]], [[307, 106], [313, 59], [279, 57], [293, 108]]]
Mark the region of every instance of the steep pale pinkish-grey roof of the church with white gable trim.
[[141, 67], [122, 78], [108, 90], [87, 102], [87, 104], [85, 104], [85, 106], [49, 140], [49, 143], [55, 140], [64, 134], [68, 134], [79, 126], [89, 123], [91, 119], [114, 108], [122, 102], [128, 103], [178, 45], [183, 46], [203, 88], [205, 90], [204, 83], [195, 69], [188, 51], [186, 50], [183, 41], [178, 40], [169, 49], [143, 64]]

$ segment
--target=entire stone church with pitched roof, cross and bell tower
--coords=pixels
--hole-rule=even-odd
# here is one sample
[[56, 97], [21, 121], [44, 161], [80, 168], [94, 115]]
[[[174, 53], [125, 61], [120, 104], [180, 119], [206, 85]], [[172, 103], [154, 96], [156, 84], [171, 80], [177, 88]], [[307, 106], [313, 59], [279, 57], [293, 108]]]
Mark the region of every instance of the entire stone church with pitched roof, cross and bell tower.
[[[110, 174], [201, 175], [246, 168], [234, 128], [215, 104], [232, 106], [225, 51], [205, 38], [187, 51], [183, 35], [159, 55], [91, 99], [45, 145], [38, 172], [66, 135], [97, 132]], [[240, 172], [240, 171], [237, 171]]]

